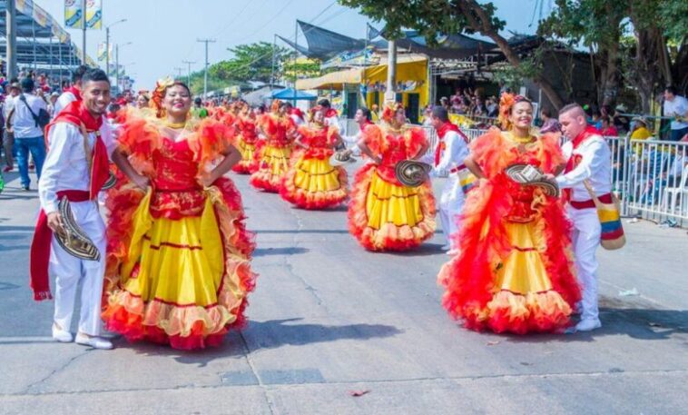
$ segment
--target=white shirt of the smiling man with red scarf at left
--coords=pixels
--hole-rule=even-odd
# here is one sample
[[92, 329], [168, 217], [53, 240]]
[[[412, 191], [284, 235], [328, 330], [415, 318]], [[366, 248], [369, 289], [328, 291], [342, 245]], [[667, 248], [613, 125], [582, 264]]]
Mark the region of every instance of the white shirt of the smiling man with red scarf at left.
[[[113, 134], [107, 122], [103, 122], [100, 133], [109, 157], [117, 143], [113, 140]], [[88, 134], [88, 143], [93, 149], [94, 133]], [[54, 124], [48, 135], [48, 153], [45, 156], [41, 180], [38, 183], [38, 197], [45, 213], [57, 210], [58, 191], [88, 191], [90, 178], [84, 151], [84, 135], [81, 130], [74, 124]]]

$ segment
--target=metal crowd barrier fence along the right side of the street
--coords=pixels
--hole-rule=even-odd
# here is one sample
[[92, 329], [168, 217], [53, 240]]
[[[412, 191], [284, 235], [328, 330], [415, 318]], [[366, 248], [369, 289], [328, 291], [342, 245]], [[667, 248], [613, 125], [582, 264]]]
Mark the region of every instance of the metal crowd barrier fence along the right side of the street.
[[[359, 132], [353, 120], [346, 120], [346, 128], [349, 135]], [[434, 152], [437, 132], [422, 128], [428, 134], [428, 152]], [[461, 131], [469, 141], [487, 132]], [[604, 138], [612, 153], [613, 190], [621, 200], [621, 214], [688, 227], [688, 143]]]

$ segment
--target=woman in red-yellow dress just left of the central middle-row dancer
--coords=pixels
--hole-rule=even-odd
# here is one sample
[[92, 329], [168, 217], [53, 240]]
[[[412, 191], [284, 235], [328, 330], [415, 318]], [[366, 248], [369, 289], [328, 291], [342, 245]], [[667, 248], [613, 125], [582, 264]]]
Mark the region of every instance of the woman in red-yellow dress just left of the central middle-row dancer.
[[282, 179], [282, 199], [303, 209], [325, 209], [344, 202], [347, 171], [329, 163], [334, 147], [341, 143], [337, 128], [325, 125], [322, 113], [316, 111], [312, 123], [300, 126], [298, 132], [295, 144], [303, 150], [294, 152]]

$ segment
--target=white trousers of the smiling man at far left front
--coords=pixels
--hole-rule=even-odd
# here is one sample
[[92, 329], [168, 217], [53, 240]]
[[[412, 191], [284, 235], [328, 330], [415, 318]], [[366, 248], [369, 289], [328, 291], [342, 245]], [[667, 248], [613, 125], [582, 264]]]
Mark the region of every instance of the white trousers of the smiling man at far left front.
[[50, 273], [55, 277], [54, 321], [64, 330], [72, 326], [76, 289], [82, 282], [79, 331], [98, 336], [101, 332], [101, 295], [105, 274], [105, 224], [96, 202], [71, 203], [74, 220], [101, 252], [100, 261], [84, 261], [65, 252], [53, 236]]

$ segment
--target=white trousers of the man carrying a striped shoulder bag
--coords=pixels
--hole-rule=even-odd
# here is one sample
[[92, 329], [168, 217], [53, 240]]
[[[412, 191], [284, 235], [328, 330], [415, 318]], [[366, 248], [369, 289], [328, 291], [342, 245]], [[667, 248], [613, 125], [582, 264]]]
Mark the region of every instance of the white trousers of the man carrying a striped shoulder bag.
[[568, 207], [568, 216], [574, 223], [571, 241], [574, 244], [575, 269], [578, 282], [583, 288], [581, 301], [581, 319], [599, 318], [597, 308], [597, 268], [599, 266], [595, 252], [600, 245], [602, 226], [595, 208], [574, 209]]

